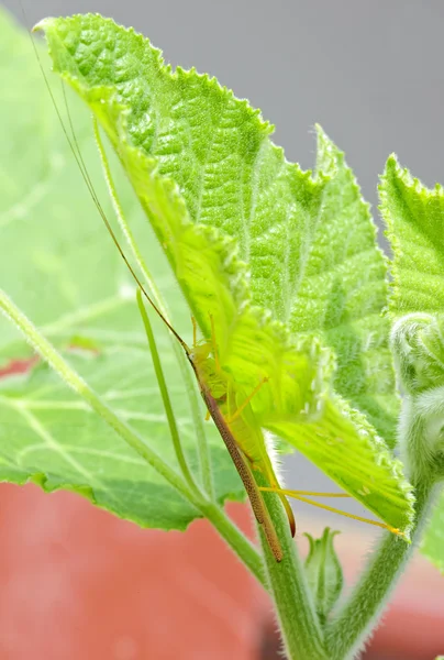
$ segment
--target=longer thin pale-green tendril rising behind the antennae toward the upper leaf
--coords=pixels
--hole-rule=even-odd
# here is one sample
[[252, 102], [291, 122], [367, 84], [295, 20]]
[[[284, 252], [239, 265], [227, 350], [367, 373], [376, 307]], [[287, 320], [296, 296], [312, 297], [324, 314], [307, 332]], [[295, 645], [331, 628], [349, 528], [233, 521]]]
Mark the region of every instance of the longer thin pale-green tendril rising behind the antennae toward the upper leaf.
[[[107, 182], [108, 190], [109, 190], [111, 201], [114, 207], [114, 211], [115, 211], [115, 216], [118, 218], [119, 224], [121, 227], [123, 235], [125, 237], [125, 239], [127, 241], [130, 250], [132, 251], [134, 258], [137, 262], [138, 267], [141, 268], [141, 271], [145, 277], [145, 282], [147, 283], [147, 285], [149, 287], [149, 292], [152, 293], [157, 307], [159, 308], [159, 310], [162, 311], [164, 317], [167, 319], [167, 321], [170, 321], [168, 310], [167, 310], [166, 305], [160, 296], [160, 292], [156, 287], [154, 278], [148, 270], [148, 266], [146, 265], [146, 262], [142, 255], [142, 252], [138, 249], [138, 245], [134, 239], [133, 232], [131, 231], [131, 227], [130, 227], [129, 221], [126, 220], [125, 213], [123, 212], [122, 205], [120, 204], [115, 184], [112, 178], [110, 164], [108, 162], [107, 153], [103, 147], [103, 142], [102, 142], [102, 139], [100, 135], [100, 130], [99, 130], [99, 125], [98, 125], [96, 118], [92, 120], [92, 125], [93, 125], [93, 130], [95, 130], [96, 144], [97, 144], [100, 160], [102, 163], [104, 179]], [[198, 398], [198, 394], [196, 392], [196, 382], [193, 381], [193, 378], [190, 374], [189, 364], [185, 358], [181, 346], [178, 345], [177, 340], [171, 336], [171, 333], [169, 333], [169, 339], [171, 341], [171, 345], [173, 345], [173, 350], [176, 355], [176, 360], [180, 367], [180, 373], [184, 378], [184, 384], [185, 384], [185, 388], [187, 392], [188, 402], [190, 404], [192, 420], [195, 422], [195, 431], [196, 431], [196, 438], [197, 438], [202, 485], [203, 485], [203, 488], [204, 488], [207, 495], [210, 497], [210, 499], [214, 499], [214, 485], [213, 485], [213, 479], [212, 479], [210, 450], [208, 447], [206, 431], [203, 428], [202, 411], [201, 411], [201, 408], [199, 407], [199, 398]]]

